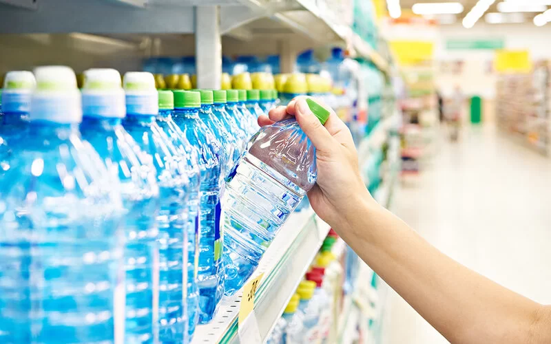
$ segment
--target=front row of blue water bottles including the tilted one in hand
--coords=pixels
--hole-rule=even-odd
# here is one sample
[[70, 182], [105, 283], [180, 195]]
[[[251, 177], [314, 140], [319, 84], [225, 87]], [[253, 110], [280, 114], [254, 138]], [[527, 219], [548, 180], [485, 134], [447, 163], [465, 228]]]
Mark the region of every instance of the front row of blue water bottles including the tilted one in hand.
[[[41, 67], [35, 75], [36, 88], [30, 72], [9, 74], [3, 92], [3, 342], [189, 340], [196, 310], [209, 321], [224, 279], [234, 287], [227, 294], [242, 286], [260, 259], [250, 244], [267, 247], [315, 182], [311, 143], [293, 120], [278, 123], [256, 133], [249, 153], [229, 169], [241, 140], [258, 129], [235, 92], [158, 94], [152, 75], [138, 72], [125, 75], [123, 90], [118, 72], [96, 69], [86, 74], [81, 108], [71, 69]], [[329, 112], [311, 103], [324, 122]], [[297, 132], [291, 140], [289, 131]], [[295, 151], [310, 152], [300, 162], [308, 168], [295, 167], [304, 175], [274, 166], [271, 160], [293, 153], [270, 156], [277, 133]], [[280, 184], [262, 185], [267, 172]], [[225, 208], [233, 211], [225, 224], [234, 246], [226, 247], [222, 177], [229, 181]], [[261, 212], [245, 219], [234, 209]], [[265, 212], [274, 209], [280, 213], [270, 213], [272, 221]], [[232, 252], [251, 264], [228, 259]]]

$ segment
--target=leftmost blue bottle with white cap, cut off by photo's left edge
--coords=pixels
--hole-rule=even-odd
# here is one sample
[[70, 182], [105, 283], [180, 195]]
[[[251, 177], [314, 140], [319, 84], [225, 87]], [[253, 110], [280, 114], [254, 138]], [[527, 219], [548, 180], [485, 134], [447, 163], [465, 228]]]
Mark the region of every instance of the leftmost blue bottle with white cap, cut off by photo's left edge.
[[30, 100], [37, 82], [28, 71], [12, 71], [4, 78], [0, 100], [0, 176], [10, 169], [10, 142], [19, 141], [28, 125]]

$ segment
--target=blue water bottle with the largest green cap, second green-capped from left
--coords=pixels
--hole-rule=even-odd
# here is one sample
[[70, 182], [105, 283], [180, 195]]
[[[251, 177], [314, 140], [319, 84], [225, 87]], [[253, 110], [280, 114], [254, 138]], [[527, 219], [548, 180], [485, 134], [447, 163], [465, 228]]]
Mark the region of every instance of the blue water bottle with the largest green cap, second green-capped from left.
[[222, 265], [223, 231], [220, 226], [222, 206], [222, 175], [225, 152], [214, 133], [200, 118], [199, 92], [174, 92], [174, 121], [191, 144], [199, 150], [200, 224], [199, 224], [199, 306], [200, 322], [210, 321], [224, 294], [224, 266]]

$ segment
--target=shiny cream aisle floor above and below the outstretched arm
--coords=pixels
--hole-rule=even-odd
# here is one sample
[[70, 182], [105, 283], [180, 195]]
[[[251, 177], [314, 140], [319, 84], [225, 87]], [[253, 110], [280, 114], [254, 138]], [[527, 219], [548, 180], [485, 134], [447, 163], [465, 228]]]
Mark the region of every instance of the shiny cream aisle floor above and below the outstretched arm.
[[[392, 210], [461, 264], [541, 303], [551, 303], [551, 160], [492, 129], [442, 140]], [[388, 294], [385, 344], [446, 343], [421, 316]]]

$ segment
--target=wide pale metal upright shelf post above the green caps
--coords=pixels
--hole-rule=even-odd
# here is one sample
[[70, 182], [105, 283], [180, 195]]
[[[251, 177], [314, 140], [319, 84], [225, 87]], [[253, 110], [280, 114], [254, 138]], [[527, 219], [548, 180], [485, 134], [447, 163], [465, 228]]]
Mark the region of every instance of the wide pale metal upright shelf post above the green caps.
[[196, 6], [194, 11], [197, 87], [220, 89], [222, 82], [220, 6]]

